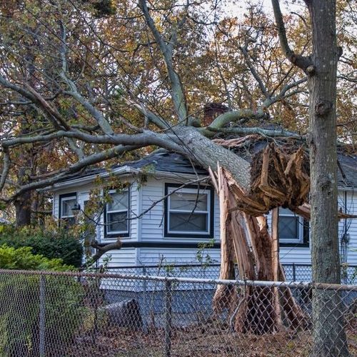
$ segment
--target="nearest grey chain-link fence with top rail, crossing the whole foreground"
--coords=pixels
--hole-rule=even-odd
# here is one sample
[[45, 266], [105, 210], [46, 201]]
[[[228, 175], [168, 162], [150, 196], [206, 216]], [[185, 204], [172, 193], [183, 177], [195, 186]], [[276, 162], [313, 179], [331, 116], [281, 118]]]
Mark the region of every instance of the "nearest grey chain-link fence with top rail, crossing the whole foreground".
[[0, 298], [4, 357], [357, 356], [357, 286], [3, 270]]

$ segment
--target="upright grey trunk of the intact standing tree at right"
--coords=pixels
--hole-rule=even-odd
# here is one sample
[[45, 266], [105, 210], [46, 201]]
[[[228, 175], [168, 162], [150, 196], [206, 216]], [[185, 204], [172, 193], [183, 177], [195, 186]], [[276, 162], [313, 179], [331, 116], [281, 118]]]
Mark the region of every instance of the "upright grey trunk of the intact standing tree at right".
[[[337, 225], [336, 1], [308, 0], [313, 31], [310, 89], [311, 243], [313, 281], [340, 283]], [[336, 291], [313, 293], [313, 356], [348, 356]]]

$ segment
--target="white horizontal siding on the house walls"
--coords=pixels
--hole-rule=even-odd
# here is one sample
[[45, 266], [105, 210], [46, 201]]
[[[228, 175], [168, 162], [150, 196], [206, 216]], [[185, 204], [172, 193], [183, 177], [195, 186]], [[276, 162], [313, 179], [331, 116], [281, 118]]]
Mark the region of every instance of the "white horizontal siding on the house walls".
[[[178, 175], [179, 176], [179, 175]], [[126, 181], [128, 181], [126, 179]], [[168, 242], [168, 243], [200, 243], [206, 242], [207, 238], [197, 238], [192, 236], [183, 236], [182, 238], [165, 237], [164, 236], [164, 201], [162, 198], [165, 195], [165, 183], [181, 183], [184, 180], [178, 177], [177, 180], [159, 179], [156, 177], [149, 177], [148, 181], [140, 186], [138, 189], [136, 181], [131, 181], [130, 193], [130, 212], [139, 216], [147, 208], [150, 208], [153, 203], [156, 205], [139, 219], [129, 221], [130, 236], [123, 238], [123, 241], [141, 241], [146, 242]], [[72, 186], [54, 193], [54, 216], [59, 217], [59, 194], [89, 192], [94, 186]], [[357, 214], [357, 193], [353, 191], [347, 192], [347, 213]], [[219, 241], [219, 203], [216, 193], [213, 194], [214, 199], [214, 231], [213, 236], [215, 241]], [[339, 191], [338, 207], [344, 211], [344, 193]], [[83, 206], [82, 206], [83, 207]], [[102, 242], [109, 243], [116, 238], [106, 238], [104, 240], [104, 215], [101, 216], [101, 226], [98, 227], [100, 239]], [[268, 215], [268, 223], [270, 226], [270, 215]], [[357, 219], [348, 218], [346, 221], [347, 233], [350, 235], [350, 241], [347, 246], [347, 262], [350, 265], [357, 265]], [[338, 223], [338, 238], [341, 242], [341, 236], [345, 231], [345, 220]], [[341, 243], [339, 243], [341, 247]], [[198, 248], [122, 248], [118, 251], [111, 251], [111, 265], [135, 265], [141, 263], [157, 263], [161, 256], [170, 262], [185, 263], [192, 262], [196, 258]], [[212, 256], [213, 260], [220, 261], [219, 249], [209, 249], [207, 252]], [[281, 246], [279, 248], [281, 263], [285, 264], [306, 264], [311, 265], [311, 247], [293, 244], [292, 246]]]

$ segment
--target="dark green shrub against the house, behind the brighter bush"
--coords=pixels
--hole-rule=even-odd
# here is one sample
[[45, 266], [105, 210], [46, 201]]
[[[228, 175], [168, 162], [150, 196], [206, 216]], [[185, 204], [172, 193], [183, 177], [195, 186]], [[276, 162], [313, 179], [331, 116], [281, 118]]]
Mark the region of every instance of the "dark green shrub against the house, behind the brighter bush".
[[2, 226], [0, 246], [6, 244], [14, 248], [31, 246], [31, 252], [46, 258], [61, 258], [65, 264], [79, 268], [82, 263], [83, 246], [75, 234], [58, 226], [26, 226], [14, 228]]

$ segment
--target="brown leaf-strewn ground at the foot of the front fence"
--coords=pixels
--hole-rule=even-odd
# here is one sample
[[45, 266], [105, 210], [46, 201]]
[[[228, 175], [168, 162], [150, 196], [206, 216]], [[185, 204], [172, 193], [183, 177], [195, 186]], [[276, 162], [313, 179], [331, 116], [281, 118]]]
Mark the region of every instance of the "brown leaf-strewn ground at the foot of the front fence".
[[[347, 334], [351, 356], [357, 356], [357, 331], [351, 326]], [[79, 336], [64, 355], [159, 357], [164, 356], [164, 341], [164, 331], [161, 329], [144, 332], [112, 328], [96, 336]], [[174, 328], [171, 334], [172, 357], [296, 357], [308, 356], [310, 351], [311, 331], [283, 331], [255, 336], [232, 332], [228, 326], [221, 324], [207, 323]]]

